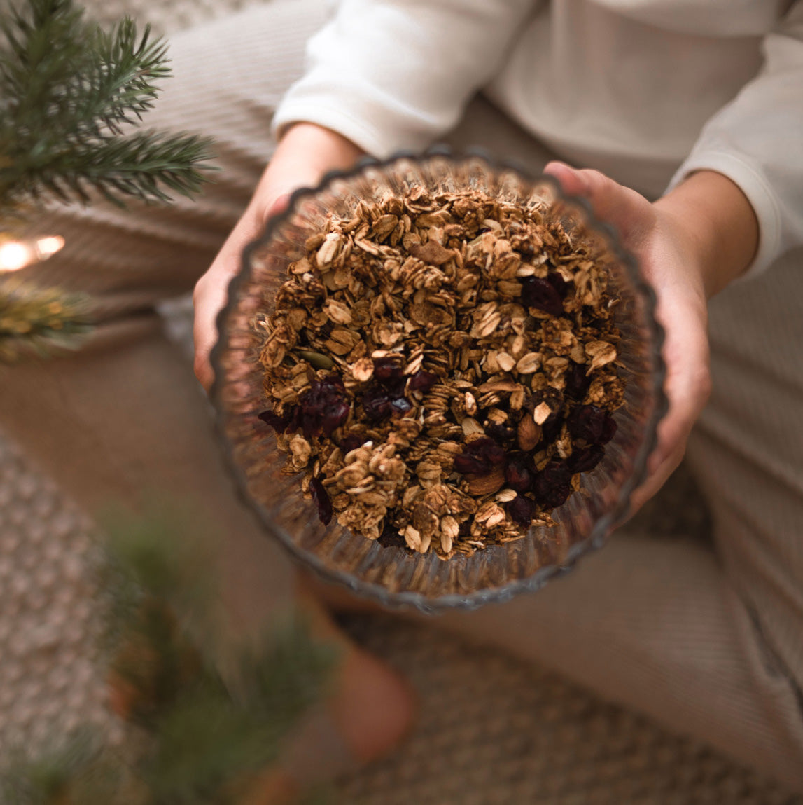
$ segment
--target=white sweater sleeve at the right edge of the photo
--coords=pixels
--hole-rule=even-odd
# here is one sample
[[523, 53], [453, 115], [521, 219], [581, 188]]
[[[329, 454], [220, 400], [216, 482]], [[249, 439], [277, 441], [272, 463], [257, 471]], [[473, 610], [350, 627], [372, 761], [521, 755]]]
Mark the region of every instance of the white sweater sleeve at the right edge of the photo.
[[803, 246], [803, 0], [764, 41], [764, 68], [702, 130], [670, 187], [710, 169], [742, 188], [760, 226], [747, 275]]

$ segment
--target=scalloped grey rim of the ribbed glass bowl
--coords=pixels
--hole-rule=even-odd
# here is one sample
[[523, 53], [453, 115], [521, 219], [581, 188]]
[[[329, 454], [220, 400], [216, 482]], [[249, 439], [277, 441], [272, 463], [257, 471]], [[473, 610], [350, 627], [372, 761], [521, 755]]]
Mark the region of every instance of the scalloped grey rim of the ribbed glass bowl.
[[[434, 158], [451, 159], [454, 163], [463, 163], [470, 160], [480, 159], [494, 173], [504, 171], [514, 171], [521, 178], [530, 184], [548, 184], [554, 192], [556, 200], [561, 200], [570, 206], [579, 207], [583, 210], [587, 225], [602, 232], [608, 239], [613, 253], [624, 266], [628, 278], [636, 293], [644, 300], [650, 328], [653, 331], [652, 349], [650, 357], [655, 365], [653, 372], [653, 394], [655, 395], [656, 405], [653, 413], [646, 423], [649, 438], [644, 440], [639, 452], [634, 460], [633, 473], [624, 485], [620, 488], [619, 497], [616, 505], [611, 510], [597, 519], [591, 527], [589, 535], [579, 543], [570, 547], [566, 557], [560, 564], [544, 565], [539, 568], [532, 576], [508, 582], [500, 587], [488, 587], [467, 594], [449, 593], [439, 597], [426, 597], [421, 592], [390, 592], [381, 584], [360, 580], [356, 576], [327, 567], [319, 557], [310, 551], [299, 547], [286, 532], [276, 526], [270, 515], [261, 504], [254, 501], [248, 493], [247, 479], [245, 473], [234, 460], [231, 444], [225, 433], [224, 407], [221, 403], [220, 390], [222, 378], [222, 366], [220, 357], [224, 352], [225, 336], [227, 333], [227, 321], [229, 314], [235, 307], [238, 299], [238, 291], [251, 279], [252, 268], [251, 258], [253, 253], [270, 241], [274, 233], [289, 221], [294, 215], [300, 202], [309, 196], [315, 196], [329, 188], [331, 184], [339, 180], [349, 180], [364, 174], [369, 169], [392, 167], [402, 161], [412, 161], [414, 163], [426, 163]], [[657, 296], [649, 282], [644, 279], [640, 266], [635, 256], [622, 245], [619, 233], [612, 225], [606, 221], [600, 221], [595, 216], [591, 204], [583, 196], [572, 196], [563, 192], [561, 185], [552, 176], [541, 174], [533, 175], [529, 169], [511, 159], [498, 159], [483, 148], [467, 148], [455, 151], [449, 146], [435, 145], [425, 151], [395, 151], [386, 159], [376, 159], [366, 156], [360, 159], [353, 167], [347, 170], [328, 171], [315, 187], [302, 187], [296, 189], [288, 200], [287, 206], [281, 213], [277, 213], [266, 220], [261, 234], [251, 240], [241, 251], [240, 266], [237, 274], [233, 275], [227, 287], [226, 303], [216, 316], [217, 338], [215, 345], [210, 353], [210, 363], [214, 373], [212, 387], [209, 390], [209, 399], [215, 413], [215, 431], [220, 448], [224, 454], [225, 463], [229, 467], [229, 472], [233, 476], [233, 482], [238, 496], [243, 502], [257, 515], [259, 522], [265, 530], [290, 552], [290, 556], [305, 568], [311, 568], [323, 580], [333, 582], [341, 587], [346, 587], [360, 597], [369, 597], [378, 601], [381, 605], [391, 609], [417, 609], [419, 612], [432, 614], [451, 609], [476, 609], [489, 603], [501, 603], [521, 592], [533, 592], [541, 588], [547, 581], [557, 576], [562, 576], [574, 567], [574, 564], [581, 556], [587, 555], [592, 551], [599, 550], [607, 542], [608, 535], [612, 530], [619, 526], [628, 518], [630, 511], [630, 500], [632, 492], [648, 476], [647, 462], [657, 444], [657, 427], [669, 409], [669, 400], [666, 397], [664, 382], [666, 378], [666, 365], [662, 354], [662, 347], [665, 340], [665, 330], [661, 323], [656, 319], [655, 312], [657, 307]], [[495, 547], [488, 547], [485, 551], [493, 551]]]

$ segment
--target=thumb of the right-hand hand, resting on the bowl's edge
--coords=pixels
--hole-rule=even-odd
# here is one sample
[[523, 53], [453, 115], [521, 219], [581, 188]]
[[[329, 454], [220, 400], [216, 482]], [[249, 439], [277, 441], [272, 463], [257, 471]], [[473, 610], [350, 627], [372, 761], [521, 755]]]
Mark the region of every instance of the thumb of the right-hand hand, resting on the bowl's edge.
[[600, 221], [616, 226], [625, 242], [638, 240], [655, 221], [653, 205], [640, 193], [603, 173], [550, 162], [544, 173], [558, 180], [567, 196], [582, 196]]

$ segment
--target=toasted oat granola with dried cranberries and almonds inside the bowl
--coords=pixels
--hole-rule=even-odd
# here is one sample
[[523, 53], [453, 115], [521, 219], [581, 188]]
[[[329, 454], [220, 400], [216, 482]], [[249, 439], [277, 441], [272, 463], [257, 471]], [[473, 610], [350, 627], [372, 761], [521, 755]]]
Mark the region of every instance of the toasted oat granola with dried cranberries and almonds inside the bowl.
[[443, 559], [552, 524], [623, 402], [610, 259], [480, 192], [330, 217], [254, 320], [261, 419], [323, 522]]

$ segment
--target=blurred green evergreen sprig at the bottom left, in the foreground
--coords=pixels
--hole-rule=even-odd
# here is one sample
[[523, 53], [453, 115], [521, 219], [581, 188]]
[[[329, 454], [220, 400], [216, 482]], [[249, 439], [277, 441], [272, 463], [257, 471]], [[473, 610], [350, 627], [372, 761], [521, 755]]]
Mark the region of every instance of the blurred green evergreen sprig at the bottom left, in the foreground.
[[[174, 530], [180, 526], [180, 530]], [[0, 773], [3, 805], [249, 805], [291, 729], [320, 700], [336, 654], [303, 618], [220, 655], [203, 527], [164, 504], [117, 510], [99, 576], [109, 613], [110, 703], [136, 726], [128, 752], [89, 728]], [[201, 532], [201, 533], [200, 533]], [[199, 543], [200, 539], [200, 543]], [[199, 558], [200, 557], [200, 558]]]

